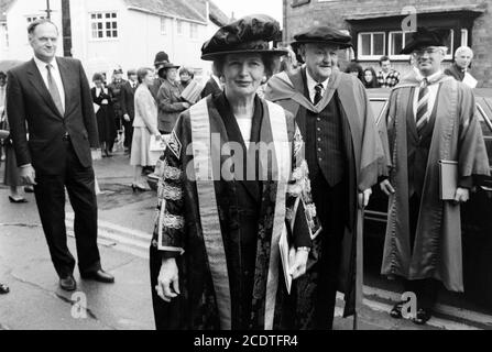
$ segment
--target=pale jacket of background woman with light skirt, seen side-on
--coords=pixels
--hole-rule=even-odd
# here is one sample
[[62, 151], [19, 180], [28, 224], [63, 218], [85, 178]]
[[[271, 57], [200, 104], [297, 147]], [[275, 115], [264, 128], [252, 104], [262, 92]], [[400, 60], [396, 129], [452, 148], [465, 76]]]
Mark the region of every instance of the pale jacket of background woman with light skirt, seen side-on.
[[157, 134], [157, 105], [150, 89], [143, 85], [135, 91], [134, 128], [147, 128], [151, 134]]

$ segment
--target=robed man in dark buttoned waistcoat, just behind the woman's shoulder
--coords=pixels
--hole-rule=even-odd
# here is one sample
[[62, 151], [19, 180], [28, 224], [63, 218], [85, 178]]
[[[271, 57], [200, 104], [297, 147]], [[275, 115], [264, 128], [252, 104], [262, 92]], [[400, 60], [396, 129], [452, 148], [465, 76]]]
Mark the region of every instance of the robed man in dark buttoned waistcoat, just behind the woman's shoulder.
[[337, 51], [351, 46], [351, 37], [315, 26], [294, 38], [292, 45], [306, 64], [273, 76], [265, 98], [296, 117], [306, 142], [324, 230], [320, 261], [311, 272], [317, 288], [308, 289], [315, 295], [315, 319], [306, 321], [305, 328], [331, 329], [337, 290], [346, 294], [346, 316], [353, 312], [358, 205], [368, 204], [384, 155], [363, 85], [335, 69]]

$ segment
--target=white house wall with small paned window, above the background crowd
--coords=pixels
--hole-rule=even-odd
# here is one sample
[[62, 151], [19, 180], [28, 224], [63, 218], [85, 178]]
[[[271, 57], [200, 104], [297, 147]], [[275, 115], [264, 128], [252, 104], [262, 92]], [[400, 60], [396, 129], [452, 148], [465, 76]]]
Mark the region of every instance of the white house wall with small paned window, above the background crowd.
[[[118, 38], [92, 40], [90, 12], [117, 12]], [[197, 38], [190, 37], [189, 22], [183, 23], [183, 34], [177, 35], [176, 20], [167, 18], [166, 33], [161, 32], [161, 16], [128, 10], [121, 0], [70, 0], [73, 55], [80, 58], [91, 77], [95, 72], [111, 76], [117, 66], [124, 72], [142, 66], [153, 67], [155, 54], [165, 51], [176, 65], [201, 68], [209, 64], [200, 61], [200, 48], [208, 38], [207, 26], [198, 24]]]

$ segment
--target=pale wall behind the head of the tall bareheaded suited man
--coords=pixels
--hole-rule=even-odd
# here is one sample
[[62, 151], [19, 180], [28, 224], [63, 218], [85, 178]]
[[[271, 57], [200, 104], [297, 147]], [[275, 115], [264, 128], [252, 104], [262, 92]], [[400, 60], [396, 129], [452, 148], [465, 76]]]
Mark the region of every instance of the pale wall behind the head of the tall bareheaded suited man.
[[[62, 1], [51, 0], [50, 7], [53, 10], [52, 21], [62, 31]], [[33, 52], [28, 41], [28, 16], [43, 15], [46, 12], [46, 0], [17, 0], [7, 13], [7, 25], [9, 31], [9, 47], [4, 45], [0, 50], [2, 59], [28, 61], [33, 56]], [[2, 35], [4, 37], [4, 35]], [[63, 56], [63, 40], [58, 40], [57, 55]]]

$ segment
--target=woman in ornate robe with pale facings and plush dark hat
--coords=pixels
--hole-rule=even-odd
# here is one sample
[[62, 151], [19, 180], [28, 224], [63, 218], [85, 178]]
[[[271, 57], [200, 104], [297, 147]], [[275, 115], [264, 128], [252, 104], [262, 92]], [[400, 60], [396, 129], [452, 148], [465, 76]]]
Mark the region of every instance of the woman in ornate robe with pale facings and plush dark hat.
[[[150, 266], [157, 329], [299, 326], [296, 283], [315, 261], [319, 222], [294, 118], [256, 95], [285, 55], [269, 46], [278, 32], [272, 18], [251, 15], [203, 46], [225, 91], [179, 116], [156, 170]], [[281, 240], [292, 253], [284, 266]]]

